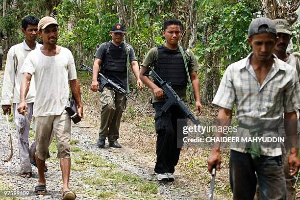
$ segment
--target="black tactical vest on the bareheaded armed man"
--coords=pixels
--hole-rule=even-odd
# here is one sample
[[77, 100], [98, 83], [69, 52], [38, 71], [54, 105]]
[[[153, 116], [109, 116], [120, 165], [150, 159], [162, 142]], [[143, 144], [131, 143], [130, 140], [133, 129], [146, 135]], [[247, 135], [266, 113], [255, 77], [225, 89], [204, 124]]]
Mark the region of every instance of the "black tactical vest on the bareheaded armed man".
[[[185, 51], [186, 48], [183, 48]], [[188, 82], [182, 54], [179, 50], [157, 47], [157, 74], [172, 85], [186, 85]]]

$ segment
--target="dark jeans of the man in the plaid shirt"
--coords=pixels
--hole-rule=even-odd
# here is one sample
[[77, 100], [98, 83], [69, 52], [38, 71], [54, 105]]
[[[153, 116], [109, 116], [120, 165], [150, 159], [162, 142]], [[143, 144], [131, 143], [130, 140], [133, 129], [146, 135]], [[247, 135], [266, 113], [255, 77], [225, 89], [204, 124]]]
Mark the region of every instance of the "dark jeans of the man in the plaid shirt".
[[234, 200], [253, 200], [258, 177], [261, 200], [285, 200], [286, 185], [280, 156], [260, 155], [252, 159], [250, 153], [230, 151], [230, 187]]

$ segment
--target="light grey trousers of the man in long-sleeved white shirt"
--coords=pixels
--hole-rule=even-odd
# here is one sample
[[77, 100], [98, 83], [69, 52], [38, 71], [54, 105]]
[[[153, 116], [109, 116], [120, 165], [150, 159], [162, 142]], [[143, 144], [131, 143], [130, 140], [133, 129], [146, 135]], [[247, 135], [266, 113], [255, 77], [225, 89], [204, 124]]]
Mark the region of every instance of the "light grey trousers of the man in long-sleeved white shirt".
[[[30, 125], [25, 121], [25, 117], [18, 112], [19, 103], [14, 103], [14, 122], [16, 124], [17, 135], [18, 135], [18, 145], [20, 154], [20, 168], [21, 174], [31, 172], [30, 164], [30, 150], [29, 150], [29, 130]], [[31, 121], [33, 103], [27, 103], [27, 117]], [[35, 143], [33, 142], [31, 148], [35, 149]]]

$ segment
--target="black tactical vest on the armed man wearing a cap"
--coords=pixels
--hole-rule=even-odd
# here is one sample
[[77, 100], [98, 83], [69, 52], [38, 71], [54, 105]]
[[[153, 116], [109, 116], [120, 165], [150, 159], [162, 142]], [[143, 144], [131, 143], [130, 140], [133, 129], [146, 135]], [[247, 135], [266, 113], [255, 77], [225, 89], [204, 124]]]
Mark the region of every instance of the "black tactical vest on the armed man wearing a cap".
[[101, 68], [108, 71], [125, 72], [127, 56], [124, 44], [116, 47], [108, 43], [107, 48], [109, 50], [106, 51], [104, 65]]

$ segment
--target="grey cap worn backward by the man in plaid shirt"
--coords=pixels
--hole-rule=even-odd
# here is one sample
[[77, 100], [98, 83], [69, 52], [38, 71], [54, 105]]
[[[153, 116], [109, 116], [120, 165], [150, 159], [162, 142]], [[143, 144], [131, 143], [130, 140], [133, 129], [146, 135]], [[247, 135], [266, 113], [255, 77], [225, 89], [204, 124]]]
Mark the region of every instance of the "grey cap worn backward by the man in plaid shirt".
[[273, 33], [277, 35], [276, 27], [271, 19], [260, 17], [254, 19], [248, 29], [248, 37], [259, 33]]

